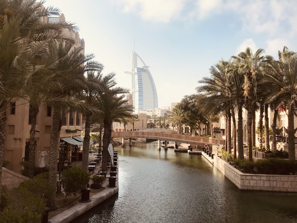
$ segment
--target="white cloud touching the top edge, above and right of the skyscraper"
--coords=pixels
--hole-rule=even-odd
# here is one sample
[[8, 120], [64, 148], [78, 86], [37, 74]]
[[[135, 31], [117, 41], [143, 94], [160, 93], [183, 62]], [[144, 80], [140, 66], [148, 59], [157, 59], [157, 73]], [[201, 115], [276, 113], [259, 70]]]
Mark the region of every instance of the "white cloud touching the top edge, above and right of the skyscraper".
[[113, 1], [125, 13], [134, 13], [143, 20], [169, 22], [178, 18], [187, 0], [117, 0]]

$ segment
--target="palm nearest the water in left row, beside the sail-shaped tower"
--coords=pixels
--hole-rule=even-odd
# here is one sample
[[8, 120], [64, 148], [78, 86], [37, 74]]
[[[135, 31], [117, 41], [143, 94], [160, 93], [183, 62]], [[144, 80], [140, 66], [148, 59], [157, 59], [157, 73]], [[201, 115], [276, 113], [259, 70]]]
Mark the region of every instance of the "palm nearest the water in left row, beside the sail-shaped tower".
[[128, 89], [121, 87], [112, 87], [105, 94], [100, 93], [97, 96], [98, 109], [102, 111], [102, 119], [104, 123], [104, 135], [103, 135], [103, 150], [102, 150], [102, 169], [107, 167], [108, 157], [108, 145], [111, 142], [111, 128], [114, 121], [120, 121], [123, 118], [131, 117], [131, 113], [134, 111], [132, 105], [127, 105], [127, 100], [124, 100], [124, 95]]

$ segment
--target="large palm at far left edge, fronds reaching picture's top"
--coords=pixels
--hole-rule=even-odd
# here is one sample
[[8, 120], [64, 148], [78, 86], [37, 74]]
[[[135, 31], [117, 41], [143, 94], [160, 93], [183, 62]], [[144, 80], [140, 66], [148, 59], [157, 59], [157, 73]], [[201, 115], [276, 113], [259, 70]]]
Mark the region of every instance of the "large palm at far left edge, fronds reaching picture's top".
[[[71, 41], [63, 33], [71, 23], [43, 23], [44, 16], [59, 15], [53, 7], [44, 8], [44, 1], [19, 0], [0, 2], [0, 187], [3, 148], [6, 140], [6, 107], [23, 96], [21, 89], [31, 80], [36, 62], [44, 55], [48, 41]], [[33, 126], [34, 127], [34, 126]], [[34, 131], [31, 131], [31, 136]], [[1, 197], [1, 196], [0, 196]]]

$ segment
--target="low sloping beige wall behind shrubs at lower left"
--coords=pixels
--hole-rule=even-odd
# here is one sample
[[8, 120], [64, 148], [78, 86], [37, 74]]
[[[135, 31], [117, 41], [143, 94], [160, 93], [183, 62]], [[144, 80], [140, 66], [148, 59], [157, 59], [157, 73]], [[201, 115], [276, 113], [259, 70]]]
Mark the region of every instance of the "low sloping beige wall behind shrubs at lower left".
[[9, 190], [19, 186], [19, 184], [24, 180], [29, 180], [29, 179], [30, 178], [27, 178], [9, 169], [2, 168], [2, 184], [7, 186]]

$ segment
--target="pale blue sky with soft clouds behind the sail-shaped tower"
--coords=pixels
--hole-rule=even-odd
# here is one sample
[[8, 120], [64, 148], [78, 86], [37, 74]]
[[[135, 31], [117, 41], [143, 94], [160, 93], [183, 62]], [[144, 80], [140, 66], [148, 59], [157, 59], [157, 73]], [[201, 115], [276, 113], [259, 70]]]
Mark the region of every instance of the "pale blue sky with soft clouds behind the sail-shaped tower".
[[[153, 76], [158, 107], [195, 94], [209, 68], [250, 47], [297, 51], [293, 0], [46, 0], [78, 26], [85, 53], [131, 89], [132, 47]], [[138, 62], [140, 63], [140, 62]]]

